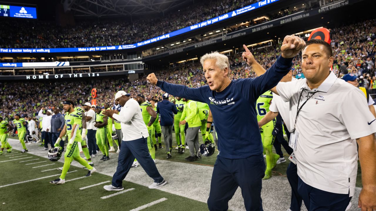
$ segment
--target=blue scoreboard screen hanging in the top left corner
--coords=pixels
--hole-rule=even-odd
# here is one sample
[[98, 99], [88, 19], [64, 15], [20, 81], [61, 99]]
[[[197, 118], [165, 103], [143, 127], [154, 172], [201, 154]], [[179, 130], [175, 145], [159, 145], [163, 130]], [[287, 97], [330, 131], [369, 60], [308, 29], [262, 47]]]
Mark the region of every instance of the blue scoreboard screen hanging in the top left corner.
[[0, 5], [0, 17], [36, 19], [35, 7]]

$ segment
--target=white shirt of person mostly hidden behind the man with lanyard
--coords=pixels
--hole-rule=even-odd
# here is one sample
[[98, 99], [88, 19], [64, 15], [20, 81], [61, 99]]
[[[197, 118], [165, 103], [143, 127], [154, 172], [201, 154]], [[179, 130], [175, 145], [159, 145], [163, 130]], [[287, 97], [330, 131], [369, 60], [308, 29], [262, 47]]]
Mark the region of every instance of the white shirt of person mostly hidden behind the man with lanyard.
[[[294, 77], [291, 78], [291, 81], [295, 80], [298, 79]], [[273, 93], [273, 103], [270, 105], [269, 110], [271, 112], [279, 112], [288, 131], [291, 131], [294, 128], [294, 125], [293, 128], [291, 128], [290, 124], [290, 102], [285, 102], [279, 95]]]

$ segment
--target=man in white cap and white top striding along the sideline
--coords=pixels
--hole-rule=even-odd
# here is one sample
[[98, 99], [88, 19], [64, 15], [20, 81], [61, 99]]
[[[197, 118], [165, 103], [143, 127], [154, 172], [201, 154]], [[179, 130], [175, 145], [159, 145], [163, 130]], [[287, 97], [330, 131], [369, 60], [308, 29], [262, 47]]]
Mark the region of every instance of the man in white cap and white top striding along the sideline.
[[115, 95], [115, 101], [122, 106], [118, 110], [106, 110], [104, 115], [112, 117], [121, 122], [121, 131], [123, 132], [123, 142], [121, 143], [118, 166], [112, 184], [105, 185], [103, 188], [108, 191], [123, 190], [123, 179], [127, 176], [130, 167], [135, 158], [141, 164], [147, 175], [154, 179], [149, 188], [158, 188], [167, 183], [159, 174], [157, 167], [149, 154], [147, 147], [147, 137], [149, 133], [141, 115], [141, 109], [138, 102], [129, 98], [130, 94], [124, 91], [118, 91]]

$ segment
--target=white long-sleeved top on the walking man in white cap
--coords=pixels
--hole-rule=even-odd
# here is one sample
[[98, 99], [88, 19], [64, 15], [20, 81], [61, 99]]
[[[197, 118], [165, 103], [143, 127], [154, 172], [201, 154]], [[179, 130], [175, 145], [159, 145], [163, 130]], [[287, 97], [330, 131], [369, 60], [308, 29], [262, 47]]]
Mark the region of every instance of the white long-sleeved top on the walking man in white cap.
[[114, 113], [112, 117], [120, 122], [123, 141], [149, 137], [140, 106], [135, 99], [130, 98], [121, 108], [119, 114]]

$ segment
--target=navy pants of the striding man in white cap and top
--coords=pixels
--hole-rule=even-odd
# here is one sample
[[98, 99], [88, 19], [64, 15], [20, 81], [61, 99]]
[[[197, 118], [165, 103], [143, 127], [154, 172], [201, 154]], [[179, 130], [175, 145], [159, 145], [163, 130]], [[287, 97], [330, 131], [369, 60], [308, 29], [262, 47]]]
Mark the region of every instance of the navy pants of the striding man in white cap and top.
[[157, 167], [149, 154], [147, 138], [132, 141], [122, 141], [118, 157], [118, 166], [112, 176], [112, 186], [122, 187], [123, 179], [127, 176], [132, 163], [137, 159], [147, 175], [154, 179], [154, 182], [162, 182], [163, 177], [159, 174]]

